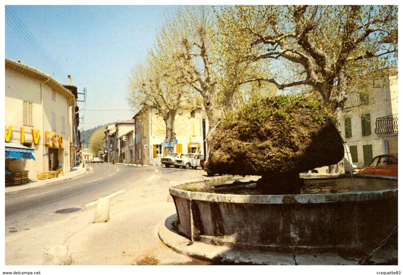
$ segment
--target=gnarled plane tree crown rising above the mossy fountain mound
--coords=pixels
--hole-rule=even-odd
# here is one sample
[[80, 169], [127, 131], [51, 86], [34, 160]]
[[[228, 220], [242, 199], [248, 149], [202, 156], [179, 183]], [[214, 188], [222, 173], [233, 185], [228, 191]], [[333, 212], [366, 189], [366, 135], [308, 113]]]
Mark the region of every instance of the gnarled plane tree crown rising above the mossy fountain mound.
[[363, 74], [397, 63], [397, 6], [237, 6], [219, 17], [247, 41], [244, 61], [278, 66], [247, 81], [309, 87], [334, 112]]

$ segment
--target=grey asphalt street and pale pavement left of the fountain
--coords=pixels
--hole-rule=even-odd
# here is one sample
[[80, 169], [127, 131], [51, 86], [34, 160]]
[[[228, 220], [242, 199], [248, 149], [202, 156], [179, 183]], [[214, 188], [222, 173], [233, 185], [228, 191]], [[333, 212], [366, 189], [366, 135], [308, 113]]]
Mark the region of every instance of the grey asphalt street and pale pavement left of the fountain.
[[[206, 172], [110, 163], [88, 165], [89, 171], [79, 178], [6, 194], [6, 265], [41, 265], [44, 249], [62, 244], [69, 246], [73, 264], [78, 265], [136, 264], [144, 257], [145, 261], [152, 259], [154, 264], [208, 264], [173, 252], [160, 242], [156, 234], [158, 224], [175, 213], [172, 200], [167, 202], [170, 184], [203, 178]], [[96, 227], [105, 228], [103, 224], [91, 224], [96, 202], [103, 197], [111, 200], [110, 221], [105, 226], [112, 226], [114, 222], [120, 225], [118, 230], [108, 231], [104, 233], [108, 236], [100, 238], [114, 238], [116, 246], [105, 251], [86, 244], [94, 248], [91, 256], [88, 256], [89, 252], [75, 254], [75, 249], [81, 249], [78, 246], [94, 241], [75, 241], [77, 236]], [[129, 211], [130, 217], [135, 217], [133, 220], [125, 219]], [[135, 226], [131, 225], [133, 222]], [[88, 233], [91, 236], [92, 231]], [[118, 237], [119, 234], [122, 238]], [[132, 234], [132, 243], [127, 243], [124, 237], [127, 234]], [[125, 243], [119, 244], [120, 241]], [[122, 250], [125, 250], [125, 257], [120, 255]]]

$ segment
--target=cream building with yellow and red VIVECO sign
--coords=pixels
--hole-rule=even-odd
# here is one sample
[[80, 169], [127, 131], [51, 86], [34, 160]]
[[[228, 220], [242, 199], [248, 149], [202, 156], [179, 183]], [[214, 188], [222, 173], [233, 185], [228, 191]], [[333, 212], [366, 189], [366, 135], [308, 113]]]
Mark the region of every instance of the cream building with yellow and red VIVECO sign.
[[[75, 95], [52, 77], [22, 62], [6, 59], [6, 169], [29, 171], [29, 179], [58, 167], [70, 172], [75, 106]], [[28, 148], [35, 159], [7, 158], [15, 151], [13, 144]]]

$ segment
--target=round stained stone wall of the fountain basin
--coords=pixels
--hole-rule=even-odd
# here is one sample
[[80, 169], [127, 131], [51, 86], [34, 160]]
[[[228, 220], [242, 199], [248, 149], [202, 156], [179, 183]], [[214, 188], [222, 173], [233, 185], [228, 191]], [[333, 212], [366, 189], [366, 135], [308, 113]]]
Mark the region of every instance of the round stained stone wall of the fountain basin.
[[192, 242], [279, 252], [369, 251], [398, 224], [397, 188], [236, 195], [176, 186], [169, 192], [179, 234]]

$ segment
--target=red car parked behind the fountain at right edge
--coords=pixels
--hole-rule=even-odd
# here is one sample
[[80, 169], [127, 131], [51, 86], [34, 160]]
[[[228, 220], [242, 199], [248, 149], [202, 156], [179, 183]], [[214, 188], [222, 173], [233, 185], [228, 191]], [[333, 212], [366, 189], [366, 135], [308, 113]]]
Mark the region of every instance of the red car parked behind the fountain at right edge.
[[384, 154], [374, 157], [370, 165], [356, 174], [397, 177], [397, 154]]

